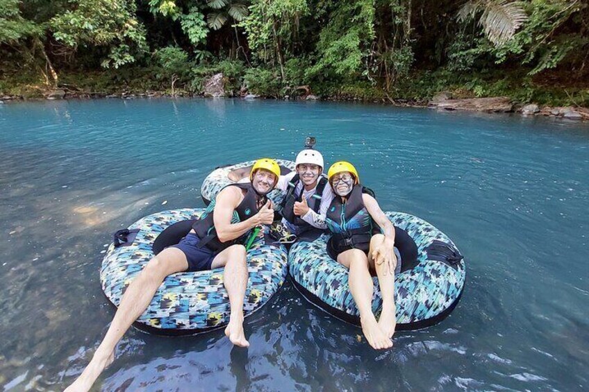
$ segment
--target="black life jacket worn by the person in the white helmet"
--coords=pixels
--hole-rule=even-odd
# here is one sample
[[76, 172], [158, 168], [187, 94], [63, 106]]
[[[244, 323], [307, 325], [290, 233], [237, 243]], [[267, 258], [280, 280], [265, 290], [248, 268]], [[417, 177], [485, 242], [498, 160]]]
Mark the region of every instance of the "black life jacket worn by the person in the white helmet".
[[[299, 226], [297, 239], [301, 239], [303, 241], [315, 241], [315, 239], [319, 238], [325, 230], [315, 228], [315, 226], [311, 225], [307, 221], [304, 221], [304, 219], [301, 219], [300, 216], [294, 214], [294, 203], [297, 201], [303, 201], [302, 196], [305, 190], [305, 187], [303, 186], [301, 187], [300, 194], [297, 195], [294, 193], [294, 189], [297, 188], [299, 182], [301, 182], [301, 178], [298, 174], [295, 174], [294, 177], [292, 177], [292, 180], [288, 182], [286, 195], [284, 196], [284, 199], [281, 203], [281, 215], [289, 223], [292, 223], [292, 225]], [[317, 187], [315, 188], [315, 194], [311, 195], [307, 200], [309, 208], [317, 213], [319, 213], [319, 209], [321, 207], [325, 185], [327, 185], [327, 179], [323, 176], [320, 176], [319, 182], [317, 182]]]

